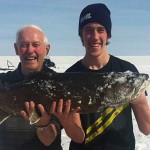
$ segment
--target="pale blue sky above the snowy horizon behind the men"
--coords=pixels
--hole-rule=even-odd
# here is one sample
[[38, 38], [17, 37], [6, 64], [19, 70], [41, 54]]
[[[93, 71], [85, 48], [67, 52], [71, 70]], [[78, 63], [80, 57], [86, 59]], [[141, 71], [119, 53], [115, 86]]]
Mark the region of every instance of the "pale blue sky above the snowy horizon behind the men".
[[111, 11], [108, 52], [118, 56], [150, 55], [149, 0], [1, 0], [0, 56], [15, 55], [16, 31], [27, 24], [45, 31], [51, 56], [84, 55], [78, 19], [86, 5], [97, 2], [106, 4]]

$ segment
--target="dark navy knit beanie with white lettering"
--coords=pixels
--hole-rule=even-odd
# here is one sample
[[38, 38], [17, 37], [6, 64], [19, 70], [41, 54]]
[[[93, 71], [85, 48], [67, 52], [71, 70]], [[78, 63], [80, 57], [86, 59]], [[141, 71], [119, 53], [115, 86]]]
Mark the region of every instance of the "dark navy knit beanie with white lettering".
[[105, 27], [107, 34], [111, 37], [111, 18], [110, 10], [105, 4], [97, 3], [86, 6], [79, 18], [79, 29], [78, 33], [81, 36], [81, 29], [88, 23], [99, 23]]

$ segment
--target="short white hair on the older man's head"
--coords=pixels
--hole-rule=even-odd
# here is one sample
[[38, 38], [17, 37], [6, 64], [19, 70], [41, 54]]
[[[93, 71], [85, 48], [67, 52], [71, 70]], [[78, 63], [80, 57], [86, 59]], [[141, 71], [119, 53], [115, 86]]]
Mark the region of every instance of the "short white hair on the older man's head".
[[25, 28], [33, 28], [33, 29], [37, 29], [37, 30], [41, 31], [41, 32], [43, 33], [43, 36], [44, 36], [44, 41], [43, 41], [43, 42], [44, 42], [45, 44], [48, 44], [48, 43], [49, 43], [49, 42], [48, 42], [48, 39], [47, 39], [47, 37], [46, 37], [46, 35], [45, 35], [45, 33], [43, 32], [43, 30], [42, 30], [39, 26], [36, 26], [36, 25], [33, 25], [33, 24], [25, 25], [25, 26], [21, 27], [21, 28], [17, 31], [17, 33], [16, 33], [16, 43], [18, 43], [19, 35], [21, 34], [22, 30], [25, 29]]

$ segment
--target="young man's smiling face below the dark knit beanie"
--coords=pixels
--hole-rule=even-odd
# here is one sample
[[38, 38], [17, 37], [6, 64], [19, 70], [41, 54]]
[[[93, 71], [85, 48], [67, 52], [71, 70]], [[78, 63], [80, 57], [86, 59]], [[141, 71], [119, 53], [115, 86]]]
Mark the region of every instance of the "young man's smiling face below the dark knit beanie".
[[106, 29], [98, 23], [89, 23], [82, 29], [82, 40], [86, 54], [98, 56], [106, 48], [108, 40]]

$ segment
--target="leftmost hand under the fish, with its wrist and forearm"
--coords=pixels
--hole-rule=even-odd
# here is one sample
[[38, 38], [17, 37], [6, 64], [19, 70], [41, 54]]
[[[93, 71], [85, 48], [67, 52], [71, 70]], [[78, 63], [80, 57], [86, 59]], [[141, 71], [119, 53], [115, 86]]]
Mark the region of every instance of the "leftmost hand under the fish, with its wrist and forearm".
[[[25, 102], [25, 111], [21, 111], [20, 114], [30, 121], [30, 124], [35, 120], [34, 125], [37, 128], [37, 136], [44, 145], [50, 145], [57, 136], [57, 129], [54, 124], [50, 124], [51, 115], [46, 112], [41, 104], [38, 104], [38, 109], [41, 113], [39, 119], [36, 118], [35, 104], [33, 101]], [[41, 132], [42, 131], [42, 132]]]

